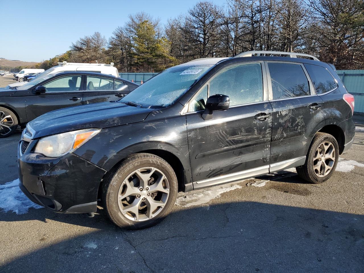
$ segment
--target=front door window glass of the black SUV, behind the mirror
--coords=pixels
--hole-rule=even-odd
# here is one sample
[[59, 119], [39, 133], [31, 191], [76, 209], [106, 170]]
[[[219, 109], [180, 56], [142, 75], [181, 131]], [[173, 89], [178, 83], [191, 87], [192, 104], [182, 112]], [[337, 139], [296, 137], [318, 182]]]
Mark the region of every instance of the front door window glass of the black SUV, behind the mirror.
[[230, 97], [230, 106], [263, 100], [263, 78], [260, 63], [230, 67], [210, 81], [210, 96]]

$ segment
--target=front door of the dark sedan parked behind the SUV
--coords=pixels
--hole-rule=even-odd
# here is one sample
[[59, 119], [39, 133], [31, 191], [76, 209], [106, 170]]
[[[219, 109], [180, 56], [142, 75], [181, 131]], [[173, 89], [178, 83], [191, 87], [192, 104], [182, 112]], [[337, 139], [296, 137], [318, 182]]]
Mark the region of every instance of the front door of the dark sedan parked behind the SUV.
[[28, 122], [37, 116], [60, 108], [82, 104], [82, 75], [61, 76], [43, 84], [46, 92], [30, 91], [25, 99]]

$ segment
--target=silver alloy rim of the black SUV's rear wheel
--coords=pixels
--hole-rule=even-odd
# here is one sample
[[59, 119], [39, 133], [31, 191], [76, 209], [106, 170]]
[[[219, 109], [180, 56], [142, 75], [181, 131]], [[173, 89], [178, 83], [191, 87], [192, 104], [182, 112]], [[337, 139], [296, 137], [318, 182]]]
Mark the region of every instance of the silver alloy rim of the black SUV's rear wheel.
[[318, 145], [313, 155], [313, 171], [318, 177], [324, 177], [330, 173], [335, 163], [335, 147], [325, 141]]

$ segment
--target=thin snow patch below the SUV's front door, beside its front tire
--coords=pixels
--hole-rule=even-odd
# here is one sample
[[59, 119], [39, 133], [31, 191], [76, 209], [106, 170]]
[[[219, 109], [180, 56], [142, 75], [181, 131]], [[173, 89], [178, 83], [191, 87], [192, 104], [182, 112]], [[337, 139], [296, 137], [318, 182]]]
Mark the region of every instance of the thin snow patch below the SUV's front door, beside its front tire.
[[[240, 181], [241, 182], [241, 181]], [[191, 193], [176, 199], [176, 205], [182, 207], [190, 207], [201, 205], [211, 201], [212, 199], [221, 197], [221, 194], [227, 191], [241, 189], [240, 185], [225, 185], [213, 187], [210, 190], [198, 191], [196, 193]]]

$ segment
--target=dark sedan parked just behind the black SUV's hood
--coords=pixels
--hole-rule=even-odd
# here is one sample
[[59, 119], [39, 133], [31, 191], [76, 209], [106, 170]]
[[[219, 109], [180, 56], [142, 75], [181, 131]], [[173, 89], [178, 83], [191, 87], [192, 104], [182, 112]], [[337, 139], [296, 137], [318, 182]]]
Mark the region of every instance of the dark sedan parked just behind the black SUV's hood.
[[48, 74], [14, 90], [0, 88], [0, 138], [49, 111], [117, 100], [137, 86], [111, 75], [72, 71]]

